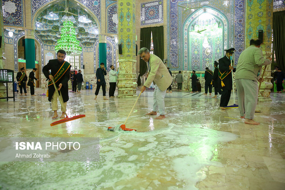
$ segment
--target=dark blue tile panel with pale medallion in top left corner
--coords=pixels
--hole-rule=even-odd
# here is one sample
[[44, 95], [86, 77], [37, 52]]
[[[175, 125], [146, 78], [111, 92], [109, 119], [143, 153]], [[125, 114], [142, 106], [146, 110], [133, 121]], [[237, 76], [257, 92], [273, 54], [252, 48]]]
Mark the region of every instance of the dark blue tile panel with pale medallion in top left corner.
[[3, 0], [3, 23], [9, 26], [23, 26], [23, 1]]

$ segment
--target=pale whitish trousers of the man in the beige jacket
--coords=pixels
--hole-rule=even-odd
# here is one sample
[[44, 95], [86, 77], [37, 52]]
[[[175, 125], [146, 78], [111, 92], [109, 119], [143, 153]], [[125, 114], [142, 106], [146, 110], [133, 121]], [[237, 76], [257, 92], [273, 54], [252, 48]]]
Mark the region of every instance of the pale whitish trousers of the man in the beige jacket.
[[161, 91], [157, 85], [154, 85], [152, 111], [158, 112], [160, 115], [165, 115], [165, 112], [164, 112], [165, 94], [166, 94], [166, 90]]

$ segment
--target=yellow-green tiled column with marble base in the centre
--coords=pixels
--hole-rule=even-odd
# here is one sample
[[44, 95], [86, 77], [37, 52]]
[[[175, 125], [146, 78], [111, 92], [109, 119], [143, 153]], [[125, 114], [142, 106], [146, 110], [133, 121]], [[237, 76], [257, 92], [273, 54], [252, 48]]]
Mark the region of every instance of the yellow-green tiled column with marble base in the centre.
[[135, 0], [118, 0], [119, 54], [118, 97], [137, 96]]

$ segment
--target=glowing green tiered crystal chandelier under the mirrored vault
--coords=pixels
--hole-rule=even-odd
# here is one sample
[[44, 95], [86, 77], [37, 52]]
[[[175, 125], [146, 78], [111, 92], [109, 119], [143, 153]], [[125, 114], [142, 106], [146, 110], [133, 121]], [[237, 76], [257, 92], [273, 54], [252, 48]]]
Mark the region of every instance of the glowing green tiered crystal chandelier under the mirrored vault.
[[64, 50], [67, 55], [75, 56], [82, 53], [82, 47], [79, 40], [76, 39], [76, 32], [73, 23], [69, 19], [63, 21], [60, 39], [57, 41], [55, 50]]

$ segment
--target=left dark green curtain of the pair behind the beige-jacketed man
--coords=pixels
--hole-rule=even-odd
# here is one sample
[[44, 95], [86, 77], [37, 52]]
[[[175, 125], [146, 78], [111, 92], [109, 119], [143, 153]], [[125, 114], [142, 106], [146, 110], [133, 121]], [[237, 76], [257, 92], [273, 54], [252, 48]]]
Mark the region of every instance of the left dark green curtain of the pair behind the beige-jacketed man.
[[[141, 40], [142, 41], [140, 43], [140, 48], [147, 48], [148, 50], [150, 50], [151, 27], [141, 28]], [[146, 70], [147, 70], [146, 62], [140, 59], [140, 74], [137, 81], [138, 86], [141, 85], [141, 76], [143, 76], [146, 73]]]

